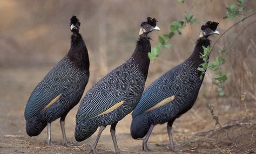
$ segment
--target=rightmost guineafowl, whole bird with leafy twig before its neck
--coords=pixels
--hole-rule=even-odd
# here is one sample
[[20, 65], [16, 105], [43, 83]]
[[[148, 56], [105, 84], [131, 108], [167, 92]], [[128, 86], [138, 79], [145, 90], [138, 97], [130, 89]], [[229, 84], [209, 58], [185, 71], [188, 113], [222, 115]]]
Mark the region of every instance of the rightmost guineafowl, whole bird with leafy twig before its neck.
[[[201, 26], [200, 38], [194, 52], [188, 59], [170, 69], [145, 89], [138, 105], [132, 113], [131, 136], [143, 139], [143, 150], [156, 124], [167, 123], [170, 148], [176, 151], [172, 139], [172, 124], [176, 118], [190, 110], [197, 99], [203, 79], [198, 67], [203, 63], [200, 54], [203, 46], [210, 46], [208, 36], [219, 34], [219, 23], [207, 22]], [[143, 138], [146, 136], [145, 138]]]

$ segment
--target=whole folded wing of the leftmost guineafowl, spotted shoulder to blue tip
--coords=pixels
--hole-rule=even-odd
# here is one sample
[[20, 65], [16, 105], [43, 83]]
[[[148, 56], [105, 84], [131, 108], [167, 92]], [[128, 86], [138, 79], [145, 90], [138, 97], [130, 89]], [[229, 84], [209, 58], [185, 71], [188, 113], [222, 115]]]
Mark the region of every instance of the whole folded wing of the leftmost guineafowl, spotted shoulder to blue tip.
[[[72, 85], [74, 73], [69, 72], [71, 65], [69, 65], [67, 59], [68, 57], [65, 56], [60, 60], [33, 90], [26, 104], [25, 119], [49, 108]], [[76, 78], [79, 77], [76, 76]]]

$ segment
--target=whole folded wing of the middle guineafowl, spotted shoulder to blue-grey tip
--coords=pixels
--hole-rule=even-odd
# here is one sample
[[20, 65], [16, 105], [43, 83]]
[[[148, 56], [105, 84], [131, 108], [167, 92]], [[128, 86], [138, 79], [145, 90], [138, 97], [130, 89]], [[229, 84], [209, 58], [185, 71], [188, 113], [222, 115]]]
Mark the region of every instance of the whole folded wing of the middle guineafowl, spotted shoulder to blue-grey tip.
[[[138, 69], [125, 64], [113, 69], [96, 83], [84, 96], [77, 112], [77, 123], [107, 114], [122, 106], [129, 95], [132, 85], [139, 87]], [[137, 88], [136, 87], [136, 88]]]

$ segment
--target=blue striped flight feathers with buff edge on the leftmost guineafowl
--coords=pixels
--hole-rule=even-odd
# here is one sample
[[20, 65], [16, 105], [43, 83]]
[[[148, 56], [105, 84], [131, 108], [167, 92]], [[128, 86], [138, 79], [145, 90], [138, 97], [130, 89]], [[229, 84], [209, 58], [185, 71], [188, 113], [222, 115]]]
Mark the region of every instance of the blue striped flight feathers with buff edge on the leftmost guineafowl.
[[36, 88], [29, 97], [28, 103], [25, 109], [25, 119], [31, 118], [37, 115], [40, 111], [49, 108], [60, 98], [60, 92], [52, 92], [48, 89]]

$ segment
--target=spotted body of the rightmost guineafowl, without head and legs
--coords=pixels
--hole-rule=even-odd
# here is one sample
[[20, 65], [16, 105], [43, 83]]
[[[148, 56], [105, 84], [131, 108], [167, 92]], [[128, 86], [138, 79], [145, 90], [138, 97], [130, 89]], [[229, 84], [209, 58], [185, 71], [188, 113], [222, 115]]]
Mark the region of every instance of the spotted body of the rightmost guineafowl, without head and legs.
[[[203, 38], [199, 41], [203, 41]], [[209, 40], [205, 39], [204, 41], [204, 45], [210, 45]], [[201, 44], [198, 44], [197, 47], [203, 51]], [[145, 89], [142, 99], [132, 113], [131, 135], [134, 139], [143, 138], [151, 124], [163, 124], [173, 120], [186, 113], [193, 106], [203, 82], [199, 79], [200, 72], [197, 70], [203, 60], [199, 58], [199, 52], [196, 55], [197, 52], [193, 53], [190, 58], [180, 65], [160, 76]], [[194, 56], [198, 56], [198, 61], [193, 61]], [[174, 96], [175, 99], [170, 103], [152, 111], [147, 111], [147, 109], [171, 96]], [[147, 121], [144, 120], [144, 116], [147, 117]], [[141, 128], [145, 126], [146, 130]], [[140, 133], [140, 131], [144, 133]]]

